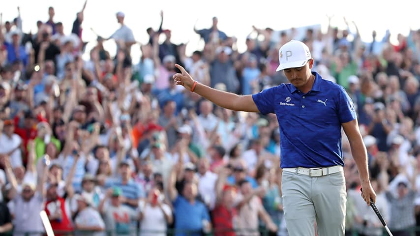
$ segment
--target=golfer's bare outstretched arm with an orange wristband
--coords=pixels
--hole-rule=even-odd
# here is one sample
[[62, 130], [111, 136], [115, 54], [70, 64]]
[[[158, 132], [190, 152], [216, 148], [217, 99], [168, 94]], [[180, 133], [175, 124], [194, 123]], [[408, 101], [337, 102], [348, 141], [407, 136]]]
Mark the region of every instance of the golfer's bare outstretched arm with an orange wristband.
[[185, 89], [201, 95], [220, 107], [234, 111], [259, 112], [252, 95], [238, 95], [210, 88], [195, 81], [179, 64], [175, 66], [181, 71], [173, 76], [177, 85], [182, 85]]

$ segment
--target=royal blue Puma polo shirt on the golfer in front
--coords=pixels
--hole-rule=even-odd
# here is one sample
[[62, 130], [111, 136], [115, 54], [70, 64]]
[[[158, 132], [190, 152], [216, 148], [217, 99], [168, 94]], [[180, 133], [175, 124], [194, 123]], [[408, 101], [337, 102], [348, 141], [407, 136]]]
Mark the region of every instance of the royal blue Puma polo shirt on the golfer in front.
[[302, 93], [281, 84], [252, 95], [262, 114], [275, 113], [280, 126], [281, 168], [342, 165], [341, 123], [357, 118], [345, 89], [315, 75]]

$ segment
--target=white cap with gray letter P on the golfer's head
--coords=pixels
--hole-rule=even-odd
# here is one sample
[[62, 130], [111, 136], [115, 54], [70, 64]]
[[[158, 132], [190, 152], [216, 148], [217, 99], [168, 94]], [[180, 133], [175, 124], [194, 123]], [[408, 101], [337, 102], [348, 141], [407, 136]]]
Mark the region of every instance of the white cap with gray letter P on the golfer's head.
[[280, 64], [276, 71], [302, 67], [311, 58], [311, 52], [306, 44], [298, 40], [291, 40], [278, 50], [278, 61]]

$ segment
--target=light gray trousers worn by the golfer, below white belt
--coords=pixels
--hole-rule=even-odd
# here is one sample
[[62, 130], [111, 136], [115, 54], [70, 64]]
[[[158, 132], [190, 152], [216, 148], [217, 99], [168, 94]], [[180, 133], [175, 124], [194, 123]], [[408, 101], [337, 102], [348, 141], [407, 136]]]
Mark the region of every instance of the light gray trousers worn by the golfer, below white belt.
[[344, 236], [346, 185], [343, 171], [309, 177], [283, 171], [284, 218], [289, 236]]

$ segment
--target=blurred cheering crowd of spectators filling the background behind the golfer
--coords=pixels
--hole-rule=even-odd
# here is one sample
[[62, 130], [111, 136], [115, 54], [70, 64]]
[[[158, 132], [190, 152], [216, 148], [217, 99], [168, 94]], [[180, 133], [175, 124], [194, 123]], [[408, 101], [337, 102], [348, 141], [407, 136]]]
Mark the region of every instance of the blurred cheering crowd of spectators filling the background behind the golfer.
[[[45, 210], [56, 235], [287, 236], [275, 115], [216, 107], [176, 86], [172, 75], [179, 63], [202, 84], [256, 93], [287, 83], [275, 69], [278, 49], [291, 39], [308, 45], [314, 71], [347, 89], [377, 207], [394, 235], [416, 234], [420, 30], [398, 34], [397, 44], [375, 31], [362, 42], [356, 24], [343, 19], [348, 29], [307, 28], [303, 38], [294, 28], [254, 26], [236, 38], [214, 17], [209, 28], [191, 29], [205, 44], [186, 55], [186, 44], [174, 44], [171, 30], [162, 29], [161, 12], [160, 27], [145, 29], [150, 40], [134, 64], [135, 26], [124, 24], [123, 12], [116, 13], [120, 28], [98, 35], [86, 52], [85, 6], [72, 26], [46, 9], [49, 20], [36, 22], [34, 33], [22, 30], [19, 7], [16, 18], [0, 17], [0, 235], [43, 234]], [[238, 40], [246, 51], [238, 52]], [[110, 54], [106, 41], [117, 52]], [[383, 235], [360, 197], [345, 137], [346, 234]]]

